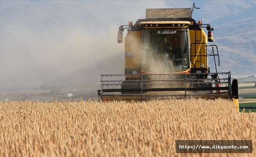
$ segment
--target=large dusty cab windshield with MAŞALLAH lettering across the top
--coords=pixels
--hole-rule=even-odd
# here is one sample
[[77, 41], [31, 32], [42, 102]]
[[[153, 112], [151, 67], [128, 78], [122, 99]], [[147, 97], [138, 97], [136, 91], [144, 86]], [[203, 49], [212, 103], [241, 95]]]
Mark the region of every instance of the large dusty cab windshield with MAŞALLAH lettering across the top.
[[141, 69], [149, 73], [172, 73], [189, 68], [187, 30], [143, 31]]

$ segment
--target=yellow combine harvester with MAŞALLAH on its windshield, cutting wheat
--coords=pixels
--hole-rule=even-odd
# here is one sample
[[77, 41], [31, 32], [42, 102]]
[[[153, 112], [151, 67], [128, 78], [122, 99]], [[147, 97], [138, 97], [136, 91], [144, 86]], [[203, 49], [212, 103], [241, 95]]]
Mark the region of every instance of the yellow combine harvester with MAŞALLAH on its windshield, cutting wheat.
[[[101, 75], [99, 101], [223, 98], [234, 101], [239, 110], [238, 80], [230, 71], [217, 72], [218, 47], [207, 44], [207, 38], [213, 42], [214, 28], [194, 20], [193, 9], [146, 9], [145, 19], [121, 25], [118, 43], [128, 30], [124, 74]], [[214, 60], [215, 72], [208, 57]]]

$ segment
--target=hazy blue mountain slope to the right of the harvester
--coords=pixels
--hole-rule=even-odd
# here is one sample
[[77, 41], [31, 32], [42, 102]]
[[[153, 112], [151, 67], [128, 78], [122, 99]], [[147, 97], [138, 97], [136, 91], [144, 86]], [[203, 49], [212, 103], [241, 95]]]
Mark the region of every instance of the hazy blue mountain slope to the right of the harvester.
[[221, 70], [234, 74], [256, 73], [256, 5], [235, 14], [216, 20], [220, 24], [214, 29], [219, 47]]

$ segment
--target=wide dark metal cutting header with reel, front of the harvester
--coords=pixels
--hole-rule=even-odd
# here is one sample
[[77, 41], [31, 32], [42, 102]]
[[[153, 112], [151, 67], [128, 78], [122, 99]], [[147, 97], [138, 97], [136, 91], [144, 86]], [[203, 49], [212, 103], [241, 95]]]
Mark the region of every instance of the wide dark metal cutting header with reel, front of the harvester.
[[102, 100], [231, 98], [228, 73], [101, 75]]

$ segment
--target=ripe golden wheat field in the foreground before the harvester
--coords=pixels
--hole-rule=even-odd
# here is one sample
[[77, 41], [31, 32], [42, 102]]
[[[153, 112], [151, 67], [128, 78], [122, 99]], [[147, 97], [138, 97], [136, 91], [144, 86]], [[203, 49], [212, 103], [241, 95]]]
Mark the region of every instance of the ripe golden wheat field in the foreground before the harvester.
[[[256, 114], [229, 100], [0, 102], [0, 156], [255, 156]], [[175, 153], [175, 140], [252, 140], [252, 153]]]

